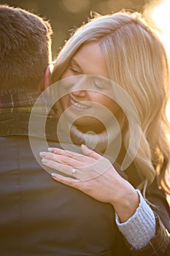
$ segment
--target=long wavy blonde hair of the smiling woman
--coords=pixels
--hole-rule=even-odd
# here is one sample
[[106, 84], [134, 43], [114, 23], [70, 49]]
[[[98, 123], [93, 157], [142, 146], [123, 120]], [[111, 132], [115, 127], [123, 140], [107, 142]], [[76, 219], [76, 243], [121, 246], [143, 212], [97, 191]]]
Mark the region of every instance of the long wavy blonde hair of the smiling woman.
[[[167, 133], [170, 128], [166, 118], [169, 64], [166, 51], [154, 29], [139, 13], [123, 11], [97, 15], [66, 42], [54, 64], [53, 81], [61, 77], [80, 46], [91, 41], [100, 45], [110, 79], [127, 91], [138, 111], [142, 138], [134, 163], [145, 185], [150, 184], [156, 172], [160, 177], [164, 176], [169, 165]], [[129, 135], [127, 127], [123, 138], [126, 149]]]

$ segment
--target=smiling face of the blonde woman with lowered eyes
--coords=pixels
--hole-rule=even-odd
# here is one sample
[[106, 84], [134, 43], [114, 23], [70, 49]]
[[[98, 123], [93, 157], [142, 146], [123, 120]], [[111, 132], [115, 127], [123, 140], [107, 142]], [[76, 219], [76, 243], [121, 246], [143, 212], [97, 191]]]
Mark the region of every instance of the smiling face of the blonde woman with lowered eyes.
[[[63, 72], [61, 79], [76, 75], [95, 75], [109, 79], [107, 65], [98, 42], [89, 42], [82, 45], [70, 61], [65, 72]], [[80, 83], [74, 84], [71, 92], [60, 99], [61, 110], [63, 112], [70, 107], [66, 112], [69, 119], [75, 119], [77, 115], [81, 116], [74, 121], [74, 124], [77, 125], [82, 132], [89, 130], [101, 132], [101, 130], [104, 129], [101, 121], [98, 120], [97, 117], [85, 116], [87, 110], [88, 113], [90, 111], [94, 113], [93, 104], [88, 104], [88, 102], [98, 103], [110, 110], [114, 115], [120, 108], [110, 97], [102, 94], [102, 89], [98, 91], [98, 83], [96, 83], [96, 91], [81, 89], [81, 87], [79, 90], [79, 86]], [[102, 111], [102, 109], [100, 111]]]

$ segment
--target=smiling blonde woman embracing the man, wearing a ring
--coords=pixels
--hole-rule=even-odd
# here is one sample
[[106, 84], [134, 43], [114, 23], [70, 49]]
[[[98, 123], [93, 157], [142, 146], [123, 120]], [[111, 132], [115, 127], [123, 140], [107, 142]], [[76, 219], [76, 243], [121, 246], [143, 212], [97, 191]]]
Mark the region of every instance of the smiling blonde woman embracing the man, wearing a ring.
[[138, 13], [97, 15], [59, 53], [59, 80], [58, 117], [75, 143], [95, 151], [49, 148], [43, 164], [67, 175], [53, 173], [56, 181], [112, 204], [136, 255], [169, 255], [169, 206], [158, 189], [169, 189], [169, 66], [155, 31]]

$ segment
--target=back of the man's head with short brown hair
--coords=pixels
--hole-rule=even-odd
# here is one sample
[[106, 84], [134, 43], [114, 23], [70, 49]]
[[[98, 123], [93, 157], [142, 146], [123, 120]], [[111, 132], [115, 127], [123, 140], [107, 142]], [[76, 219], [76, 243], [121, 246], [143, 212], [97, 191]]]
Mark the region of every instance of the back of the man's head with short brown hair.
[[50, 23], [0, 5], [0, 93], [37, 91], [51, 61]]

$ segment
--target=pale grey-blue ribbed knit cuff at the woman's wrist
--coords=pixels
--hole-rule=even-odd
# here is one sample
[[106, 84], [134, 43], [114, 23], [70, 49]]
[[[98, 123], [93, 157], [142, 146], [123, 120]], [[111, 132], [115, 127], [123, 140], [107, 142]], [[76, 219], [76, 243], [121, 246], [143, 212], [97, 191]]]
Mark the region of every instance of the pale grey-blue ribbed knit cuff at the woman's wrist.
[[155, 215], [144, 197], [142, 197], [139, 189], [136, 189], [139, 194], [140, 203], [134, 215], [127, 222], [120, 223], [119, 217], [115, 215], [115, 221], [120, 232], [123, 233], [126, 240], [134, 249], [141, 249], [146, 246], [150, 239], [155, 236]]

